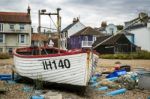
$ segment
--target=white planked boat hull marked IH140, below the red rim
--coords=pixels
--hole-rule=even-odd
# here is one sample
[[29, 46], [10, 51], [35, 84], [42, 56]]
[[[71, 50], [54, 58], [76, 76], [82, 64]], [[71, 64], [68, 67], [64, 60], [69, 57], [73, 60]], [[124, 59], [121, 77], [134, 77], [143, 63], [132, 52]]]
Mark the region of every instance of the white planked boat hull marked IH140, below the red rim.
[[91, 53], [42, 58], [23, 58], [14, 55], [14, 64], [16, 72], [21, 76], [47, 82], [87, 86], [97, 59], [98, 56]]

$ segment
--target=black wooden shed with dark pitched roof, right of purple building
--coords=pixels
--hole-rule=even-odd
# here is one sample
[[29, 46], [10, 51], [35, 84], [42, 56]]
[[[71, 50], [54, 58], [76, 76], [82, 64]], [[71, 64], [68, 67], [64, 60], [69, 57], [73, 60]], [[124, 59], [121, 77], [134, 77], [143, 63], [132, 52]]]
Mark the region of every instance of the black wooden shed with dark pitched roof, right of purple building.
[[93, 49], [100, 54], [129, 53], [136, 51], [136, 45], [131, 43], [124, 33], [98, 37], [92, 46]]

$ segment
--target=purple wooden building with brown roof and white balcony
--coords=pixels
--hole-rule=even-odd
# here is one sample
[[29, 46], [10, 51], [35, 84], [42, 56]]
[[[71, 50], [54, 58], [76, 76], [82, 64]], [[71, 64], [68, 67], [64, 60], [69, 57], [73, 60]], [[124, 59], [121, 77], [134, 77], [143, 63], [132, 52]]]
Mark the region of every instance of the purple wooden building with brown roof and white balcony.
[[96, 38], [102, 35], [91, 27], [85, 27], [68, 38], [68, 49], [91, 48]]

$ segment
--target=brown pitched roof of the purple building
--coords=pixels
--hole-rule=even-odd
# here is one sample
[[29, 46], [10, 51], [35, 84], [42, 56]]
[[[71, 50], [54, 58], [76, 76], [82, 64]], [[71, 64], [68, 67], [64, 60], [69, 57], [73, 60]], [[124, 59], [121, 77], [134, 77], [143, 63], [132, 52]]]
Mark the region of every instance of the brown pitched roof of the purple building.
[[72, 36], [79, 36], [79, 35], [104, 35], [104, 34], [91, 27], [85, 27], [84, 29], [80, 30], [79, 32], [75, 33]]

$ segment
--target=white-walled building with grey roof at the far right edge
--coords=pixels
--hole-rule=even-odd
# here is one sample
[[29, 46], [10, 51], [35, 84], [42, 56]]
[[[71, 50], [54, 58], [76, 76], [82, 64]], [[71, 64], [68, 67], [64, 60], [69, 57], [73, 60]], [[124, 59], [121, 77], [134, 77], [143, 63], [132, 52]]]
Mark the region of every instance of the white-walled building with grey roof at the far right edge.
[[135, 18], [125, 22], [125, 28], [128, 32], [134, 34], [135, 45], [141, 47], [142, 50], [150, 51], [150, 17], [147, 17], [145, 22], [141, 20], [136, 22], [137, 20], [138, 18]]

